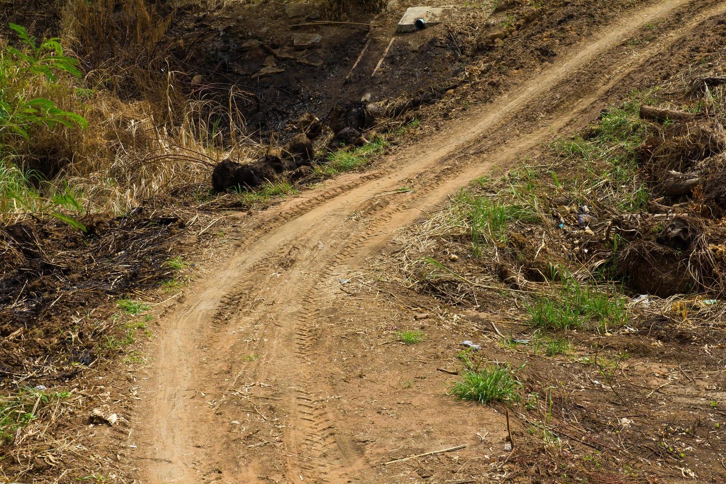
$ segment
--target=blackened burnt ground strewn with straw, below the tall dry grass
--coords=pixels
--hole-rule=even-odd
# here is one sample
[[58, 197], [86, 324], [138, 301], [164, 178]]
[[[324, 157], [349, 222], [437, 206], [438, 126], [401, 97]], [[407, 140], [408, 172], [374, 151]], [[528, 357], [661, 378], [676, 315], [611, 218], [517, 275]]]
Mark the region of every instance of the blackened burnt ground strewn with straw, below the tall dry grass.
[[0, 377], [68, 379], [99, 356], [103, 308], [158, 286], [184, 234], [171, 211], [138, 208], [123, 217], [86, 217], [86, 232], [62, 221], [0, 228]]

